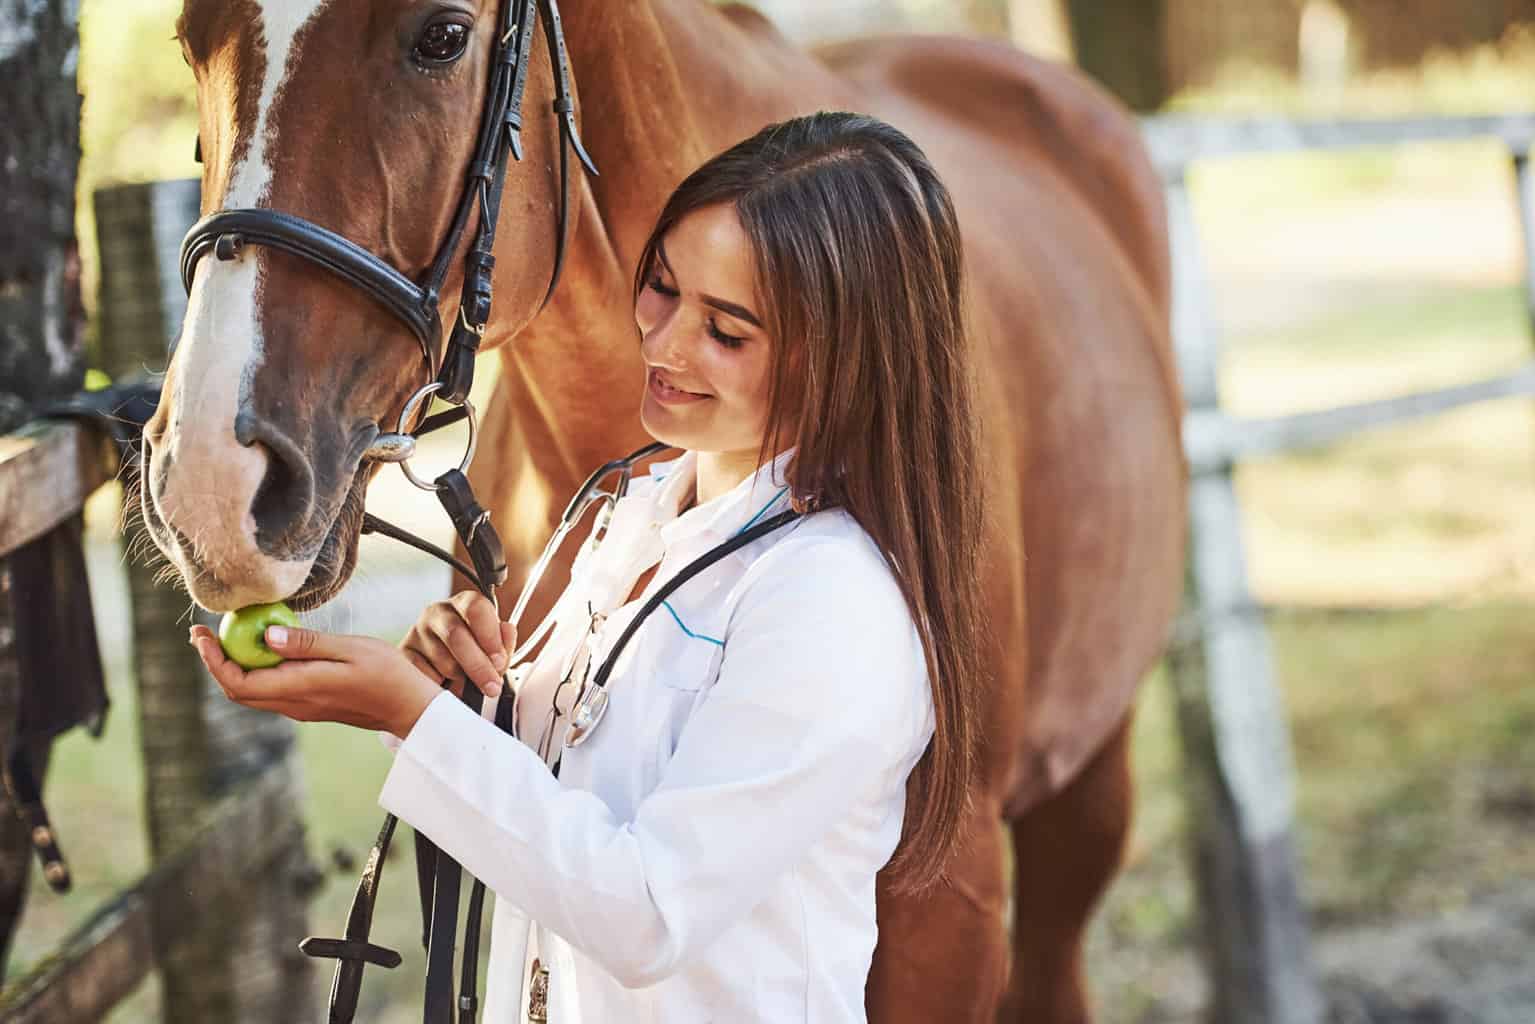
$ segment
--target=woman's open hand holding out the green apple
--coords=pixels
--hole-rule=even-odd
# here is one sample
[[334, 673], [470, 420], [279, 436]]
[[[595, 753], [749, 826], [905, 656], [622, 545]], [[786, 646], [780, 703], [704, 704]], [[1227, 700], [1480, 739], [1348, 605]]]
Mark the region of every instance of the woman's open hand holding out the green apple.
[[442, 692], [436, 677], [371, 637], [269, 626], [267, 646], [286, 660], [250, 672], [224, 656], [207, 626], [192, 626], [190, 642], [230, 700], [296, 722], [339, 722], [404, 740]]

